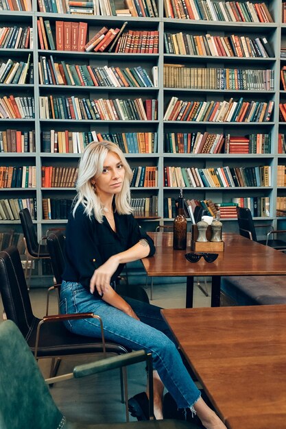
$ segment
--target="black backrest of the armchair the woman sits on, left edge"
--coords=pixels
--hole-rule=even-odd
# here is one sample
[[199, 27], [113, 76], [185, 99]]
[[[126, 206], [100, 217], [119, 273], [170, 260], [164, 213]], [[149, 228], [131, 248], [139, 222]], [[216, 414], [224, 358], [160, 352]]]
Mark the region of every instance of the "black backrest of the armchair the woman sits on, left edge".
[[19, 251], [14, 246], [0, 252], [0, 291], [7, 318], [27, 338], [35, 318]]

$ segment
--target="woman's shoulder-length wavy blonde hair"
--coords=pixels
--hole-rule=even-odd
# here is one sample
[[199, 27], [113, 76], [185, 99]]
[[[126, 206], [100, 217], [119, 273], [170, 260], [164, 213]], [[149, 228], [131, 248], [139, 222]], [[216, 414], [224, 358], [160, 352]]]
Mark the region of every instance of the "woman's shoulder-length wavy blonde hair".
[[91, 179], [93, 177], [97, 179], [97, 177], [102, 174], [104, 160], [108, 152], [117, 154], [125, 169], [122, 189], [119, 194], [115, 195], [115, 209], [119, 215], [129, 215], [132, 213], [132, 208], [130, 207], [130, 181], [132, 179], [132, 170], [121, 149], [119, 149], [115, 143], [103, 140], [101, 142], [89, 143], [84, 149], [82, 158], [80, 159], [78, 181], [76, 185], [78, 194], [73, 200], [73, 216], [75, 216], [75, 211], [78, 206], [82, 204], [84, 206], [84, 212], [89, 218], [94, 215], [99, 223], [103, 222], [104, 211], [102, 202], [93, 189]]

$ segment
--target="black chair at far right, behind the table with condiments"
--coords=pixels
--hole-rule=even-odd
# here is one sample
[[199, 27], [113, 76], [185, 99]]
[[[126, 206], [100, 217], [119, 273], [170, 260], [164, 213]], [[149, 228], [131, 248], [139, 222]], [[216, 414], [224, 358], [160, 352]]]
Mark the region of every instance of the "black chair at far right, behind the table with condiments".
[[[286, 251], [286, 242], [277, 238], [270, 238], [272, 234], [278, 232], [286, 232], [286, 230], [274, 230], [272, 225], [254, 225], [252, 214], [249, 208], [237, 207], [237, 221], [239, 225], [239, 234], [243, 237], [250, 238], [250, 240], [257, 241], [266, 246], [273, 247], [276, 250]], [[266, 240], [257, 240], [257, 232], [255, 228], [270, 228], [267, 232]]]

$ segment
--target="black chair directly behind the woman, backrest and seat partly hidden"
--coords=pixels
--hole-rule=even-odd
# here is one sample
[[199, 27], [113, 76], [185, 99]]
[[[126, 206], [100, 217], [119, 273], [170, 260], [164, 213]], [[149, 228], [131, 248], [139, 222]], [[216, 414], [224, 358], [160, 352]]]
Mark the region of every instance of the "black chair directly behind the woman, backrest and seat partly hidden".
[[[57, 283], [55, 287], [58, 287], [58, 285], [62, 283], [62, 273], [64, 271], [64, 240], [64, 232], [60, 230], [49, 231], [47, 234], [47, 247], [49, 249], [49, 256], [51, 257], [51, 267]], [[146, 291], [136, 284], [122, 284], [118, 281], [116, 291], [119, 295], [149, 303]]]

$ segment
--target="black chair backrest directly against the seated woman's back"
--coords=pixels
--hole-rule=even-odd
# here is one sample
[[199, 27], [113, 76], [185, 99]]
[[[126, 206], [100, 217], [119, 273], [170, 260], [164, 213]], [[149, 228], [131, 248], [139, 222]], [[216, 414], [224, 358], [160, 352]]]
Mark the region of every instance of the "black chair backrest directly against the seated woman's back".
[[51, 267], [58, 284], [62, 283], [62, 273], [64, 272], [64, 241], [65, 236], [60, 230], [50, 231], [47, 234]]

